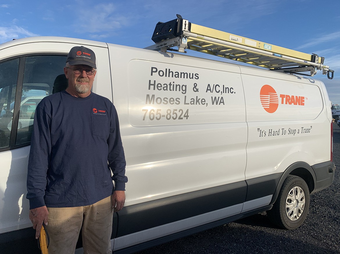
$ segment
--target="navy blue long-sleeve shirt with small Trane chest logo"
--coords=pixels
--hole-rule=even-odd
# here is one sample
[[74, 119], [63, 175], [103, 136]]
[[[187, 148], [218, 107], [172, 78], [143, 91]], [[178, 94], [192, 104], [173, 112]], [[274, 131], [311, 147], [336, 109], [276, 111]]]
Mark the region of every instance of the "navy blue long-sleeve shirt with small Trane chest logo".
[[107, 98], [63, 91], [38, 104], [27, 176], [30, 209], [87, 206], [125, 190], [125, 165], [117, 111]]

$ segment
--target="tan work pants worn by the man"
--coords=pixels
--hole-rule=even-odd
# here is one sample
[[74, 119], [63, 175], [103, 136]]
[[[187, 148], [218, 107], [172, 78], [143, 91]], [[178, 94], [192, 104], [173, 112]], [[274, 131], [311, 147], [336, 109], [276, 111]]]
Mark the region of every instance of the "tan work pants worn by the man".
[[72, 254], [82, 229], [84, 254], [111, 254], [111, 197], [90, 206], [47, 208], [49, 254]]

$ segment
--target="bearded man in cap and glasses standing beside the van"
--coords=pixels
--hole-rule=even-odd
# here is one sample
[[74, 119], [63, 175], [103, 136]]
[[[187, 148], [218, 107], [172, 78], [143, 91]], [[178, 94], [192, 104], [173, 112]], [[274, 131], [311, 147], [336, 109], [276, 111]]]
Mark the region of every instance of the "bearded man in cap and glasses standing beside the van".
[[91, 92], [96, 69], [91, 49], [71, 48], [68, 87], [45, 97], [35, 112], [27, 198], [36, 238], [46, 225], [50, 254], [74, 253], [80, 229], [84, 253], [112, 253], [113, 211], [124, 206], [118, 116], [108, 99]]

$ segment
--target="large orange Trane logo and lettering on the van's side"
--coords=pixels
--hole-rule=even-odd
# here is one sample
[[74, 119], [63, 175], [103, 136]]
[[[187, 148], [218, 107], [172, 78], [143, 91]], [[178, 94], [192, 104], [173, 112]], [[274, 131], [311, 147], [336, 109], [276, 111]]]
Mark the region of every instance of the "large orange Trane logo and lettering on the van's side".
[[268, 113], [274, 113], [277, 110], [279, 104], [305, 106], [305, 100], [307, 100], [307, 98], [304, 96], [280, 94], [279, 99], [273, 87], [270, 85], [264, 85], [260, 90], [260, 100], [262, 107]]

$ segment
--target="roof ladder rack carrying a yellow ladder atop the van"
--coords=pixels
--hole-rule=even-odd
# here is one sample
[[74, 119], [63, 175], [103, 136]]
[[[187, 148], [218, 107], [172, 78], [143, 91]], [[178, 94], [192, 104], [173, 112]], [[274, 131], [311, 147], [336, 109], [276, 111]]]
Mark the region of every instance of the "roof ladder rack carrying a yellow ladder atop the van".
[[[324, 57], [229, 34], [190, 23], [177, 14], [177, 19], [158, 22], [152, 40], [146, 49], [186, 52], [191, 49], [274, 71], [314, 76], [318, 70], [333, 79], [334, 71], [324, 65]], [[178, 49], [173, 49], [178, 47]], [[310, 74], [301, 72], [308, 71]]]

